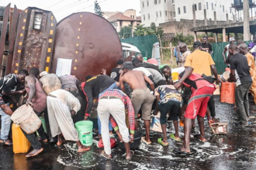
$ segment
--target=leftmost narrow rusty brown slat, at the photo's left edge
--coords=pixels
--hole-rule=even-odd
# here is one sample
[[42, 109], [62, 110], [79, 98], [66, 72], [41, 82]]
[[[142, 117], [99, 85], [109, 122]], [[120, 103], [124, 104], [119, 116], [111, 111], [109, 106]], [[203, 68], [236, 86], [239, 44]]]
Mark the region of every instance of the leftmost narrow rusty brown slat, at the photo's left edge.
[[2, 70], [2, 57], [3, 57], [4, 51], [5, 51], [5, 39], [6, 39], [7, 26], [8, 26], [8, 21], [9, 21], [10, 6], [11, 6], [11, 3], [9, 3], [9, 5], [7, 5], [5, 7], [4, 19], [2, 22], [2, 32], [1, 32], [1, 39], [0, 39], [0, 66], [1, 66], [0, 68], [1, 68], [1, 70]]

